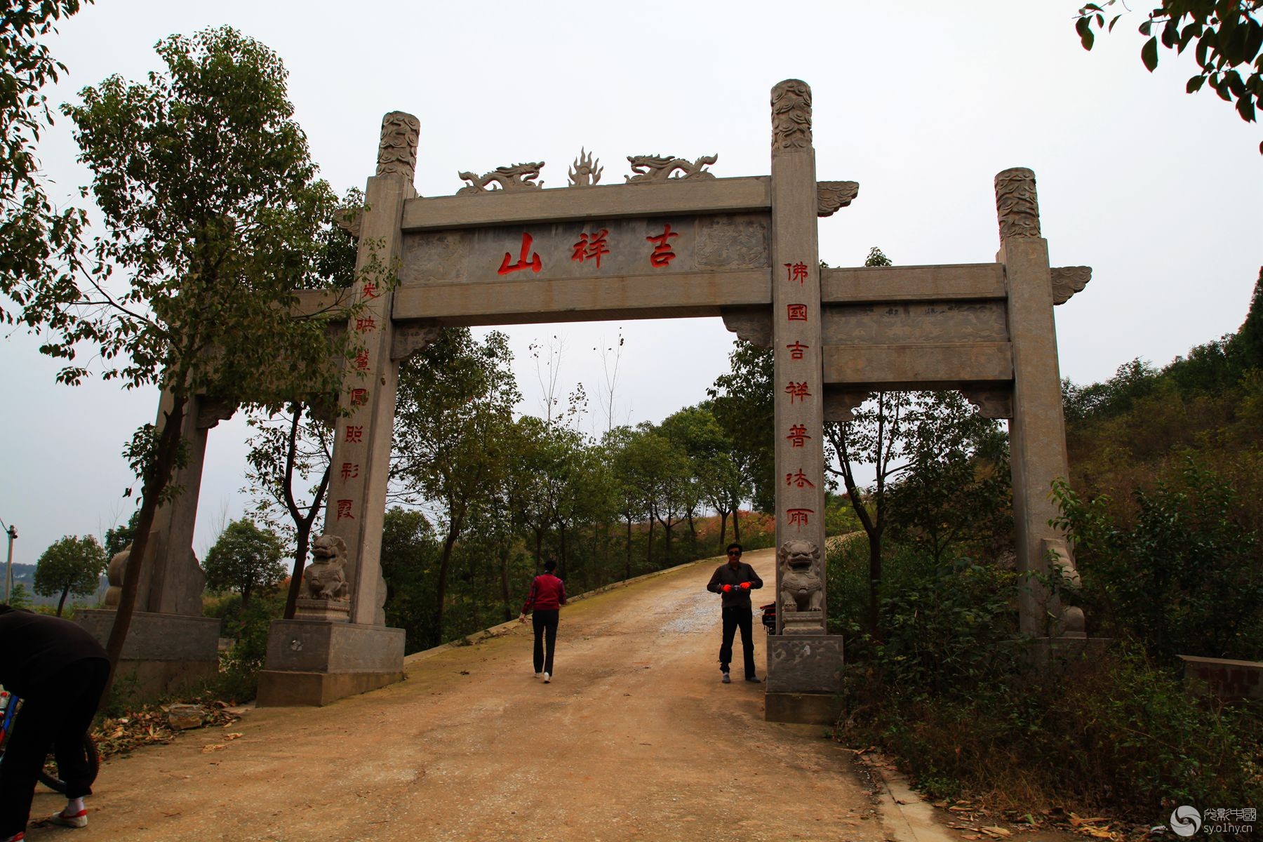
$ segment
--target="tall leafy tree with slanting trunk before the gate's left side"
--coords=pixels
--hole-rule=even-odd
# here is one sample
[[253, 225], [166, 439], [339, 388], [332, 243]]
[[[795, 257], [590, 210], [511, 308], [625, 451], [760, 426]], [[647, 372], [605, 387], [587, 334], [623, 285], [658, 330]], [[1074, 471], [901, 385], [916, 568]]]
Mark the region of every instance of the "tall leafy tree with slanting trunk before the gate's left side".
[[87, 375], [76, 365], [85, 343], [106, 379], [165, 395], [162, 424], [143, 427], [126, 449], [141, 502], [107, 644], [115, 665], [135, 608], [135, 559], [158, 505], [177, 491], [168, 486], [189, 398], [280, 406], [336, 393], [332, 357], [345, 353], [331, 348], [330, 313], [289, 316], [290, 290], [317, 274], [337, 202], [316, 178], [279, 58], [230, 28], [155, 49], [165, 73], [144, 83], [112, 76], [63, 106], [106, 234], [86, 289], [48, 288], [24, 314], [45, 329], [42, 350], [66, 361], [58, 380]]

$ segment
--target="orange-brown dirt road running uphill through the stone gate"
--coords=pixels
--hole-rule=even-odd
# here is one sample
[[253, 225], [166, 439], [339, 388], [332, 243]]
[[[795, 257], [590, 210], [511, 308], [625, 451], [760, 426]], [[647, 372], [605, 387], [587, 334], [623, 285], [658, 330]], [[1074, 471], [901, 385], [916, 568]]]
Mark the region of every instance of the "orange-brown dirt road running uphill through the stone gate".
[[[773, 581], [770, 550], [746, 559]], [[720, 683], [719, 597], [703, 590], [717, 563], [563, 608], [551, 684], [515, 625], [413, 656], [408, 680], [375, 693], [251, 711], [110, 761], [86, 829], [27, 838], [885, 838], [845, 749], [764, 722], [762, 684]], [[764, 636], [755, 625], [760, 675]], [[33, 814], [62, 804], [39, 794]]]

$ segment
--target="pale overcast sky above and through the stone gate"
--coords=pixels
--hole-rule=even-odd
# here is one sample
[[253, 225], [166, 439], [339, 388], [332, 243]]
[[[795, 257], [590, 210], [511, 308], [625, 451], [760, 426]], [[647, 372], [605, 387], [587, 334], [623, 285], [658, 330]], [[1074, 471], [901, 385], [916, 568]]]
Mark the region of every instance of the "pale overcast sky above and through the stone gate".
[[[544, 160], [566, 184], [581, 146], [621, 183], [626, 155], [719, 154], [720, 177], [769, 172], [773, 85], [813, 92], [817, 175], [860, 183], [820, 227], [821, 259], [860, 265], [984, 263], [998, 247], [995, 173], [1038, 181], [1053, 265], [1092, 282], [1056, 311], [1061, 372], [1104, 380], [1133, 357], [1163, 365], [1235, 331], [1259, 273], [1263, 127], [1211, 92], [1183, 93], [1191, 57], [1139, 61], [1140, 15], [1087, 53], [1079, 0], [661, 4], [172, 3], [99, 0], [51, 40], [69, 72], [49, 100], [119, 73], [160, 69], [154, 43], [229, 24], [274, 49], [312, 154], [338, 192], [373, 174], [381, 115], [421, 120], [417, 189], [455, 193], [457, 170]], [[68, 121], [40, 159], [56, 191], [88, 183]], [[597, 346], [625, 336], [618, 423], [658, 422], [705, 398], [726, 370], [719, 319], [533, 326], [510, 331], [522, 409], [539, 413], [528, 346], [565, 343], [561, 391], [601, 393]], [[23, 333], [0, 340], [0, 519], [34, 563], [63, 534], [96, 534], [134, 504], [120, 456], [154, 418], [157, 394], [53, 382], [57, 366]], [[585, 428], [604, 429], [596, 410]], [[244, 424], [211, 432], [195, 548], [205, 555], [242, 510]]]

